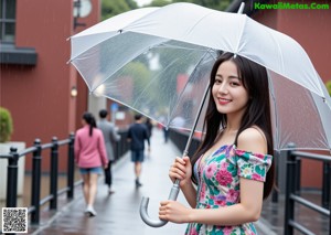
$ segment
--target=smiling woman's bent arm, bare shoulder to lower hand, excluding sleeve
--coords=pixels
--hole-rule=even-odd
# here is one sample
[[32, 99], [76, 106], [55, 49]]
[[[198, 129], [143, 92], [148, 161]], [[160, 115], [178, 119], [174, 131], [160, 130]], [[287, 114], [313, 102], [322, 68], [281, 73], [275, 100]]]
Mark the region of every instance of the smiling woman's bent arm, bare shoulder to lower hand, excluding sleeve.
[[[260, 131], [248, 128], [238, 137], [238, 149], [266, 153], [266, 140]], [[264, 182], [241, 178], [238, 204], [218, 209], [188, 209], [179, 202], [161, 202], [159, 217], [174, 223], [201, 223], [211, 225], [238, 225], [257, 221], [263, 204]]]

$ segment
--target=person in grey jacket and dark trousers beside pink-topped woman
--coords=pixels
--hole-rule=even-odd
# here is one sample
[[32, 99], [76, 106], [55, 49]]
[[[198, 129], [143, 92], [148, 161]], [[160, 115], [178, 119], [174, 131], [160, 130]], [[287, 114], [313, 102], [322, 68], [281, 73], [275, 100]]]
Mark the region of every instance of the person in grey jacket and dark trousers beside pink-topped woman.
[[115, 191], [111, 189], [113, 184], [113, 173], [111, 173], [111, 165], [115, 161], [115, 153], [114, 153], [114, 146], [115, 143], [120, 140], [120, 136], [117, 132], [117, 128], [115, 124], [107, 120], [108, 111], [106, 109], [102, 109], [99, 111], [100, 120], [97, 122], [97, 127], [104, 133], [104, 140], [108, 157], [108, 167], [104, 169], [105, 172], [105, 184], [108, 185], [108, 193], [113, 194]]

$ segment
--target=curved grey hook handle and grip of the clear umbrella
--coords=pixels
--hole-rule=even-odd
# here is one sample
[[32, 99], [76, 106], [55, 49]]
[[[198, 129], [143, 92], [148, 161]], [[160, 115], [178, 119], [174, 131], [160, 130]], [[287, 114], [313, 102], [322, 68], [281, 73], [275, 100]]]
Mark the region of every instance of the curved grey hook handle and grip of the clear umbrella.
[[[169, 200], [175, 201], [179, 194], [180, 188], [179, 188], [179, 180], [177, 180], [170, 191], [169, 194]], [[141, 203], [140, 203], [140, 217], [142, 221], [151, 226], [151, 227], [162, 227], [164, 226], [168, 221], [162, 221], [162, 220], [151, 220], [148, 215], [148, 203], [149, 203], [149, 197], [142, 196]]]

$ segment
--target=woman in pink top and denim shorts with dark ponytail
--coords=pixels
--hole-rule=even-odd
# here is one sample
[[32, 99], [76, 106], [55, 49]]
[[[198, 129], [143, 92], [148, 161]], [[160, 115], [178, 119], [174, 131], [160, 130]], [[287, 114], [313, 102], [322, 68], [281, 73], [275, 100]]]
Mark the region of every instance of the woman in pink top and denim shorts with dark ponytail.
[[102, 130], [96, 128], [96, 121], [90, 113], [85, 113], [82, 119], [83, 128], [76, 131], [75, 161], [83, 178], [83, 191], [87, 204], [85, 214], [96, 216], [93, 207], [97, 192], [98, 174], [107, 168], [108, 159]]

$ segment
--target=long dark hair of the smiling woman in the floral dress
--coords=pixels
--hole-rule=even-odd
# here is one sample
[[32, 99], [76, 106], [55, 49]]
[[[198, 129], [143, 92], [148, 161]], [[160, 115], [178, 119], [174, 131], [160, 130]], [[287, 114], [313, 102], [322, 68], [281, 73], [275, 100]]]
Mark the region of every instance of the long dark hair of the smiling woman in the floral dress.
[[[223, 62], [232, 61], [236, 64], [238, 70], [238, 75], [243, 81], [243, 86], [248, 93], [248, 103], [247, 108], [242, 118], [241, 127], [237, 131], [235, 138], [235, 145], [237, 145], [237, 139], [241, 132], [245, 129], [257, 126], [264, 131], [264, 135], [267, 139], [268, 154], [274, 154], [274, 140], [273, 140], [273, 130], [271, 130], [271, 115], [270, 115], [270, 102], [269, 102], [269, 85], [268, 85], [268, 75], [264, 66], [252, 62], [239, 55], [234, 55], [233, 53], [222, 54], [215, 62], [212, 72], [211, 72], [211, 89], [215, 83], [215, 77], [220, 65]], [[202, 140], [196, 152], [193, 154], [191, 162], [192, 167], [197, 161], [197, 159], [206, 152], [217, 138], [220, 130], [226, 127], [226, 115], [221, 114], [216, 109], [216, 104], [214, 102], [212, 92], [209, 96], [209, 105], [204, 119], [204, 139]], [[273, 188], [275, 181], [275, 164], [273, 163], [267, 172], [266, 182], [264, 184], [264, 199], [266, 199]], [[192, 174], [192, 180], [196, 183], [194, 174]]]

